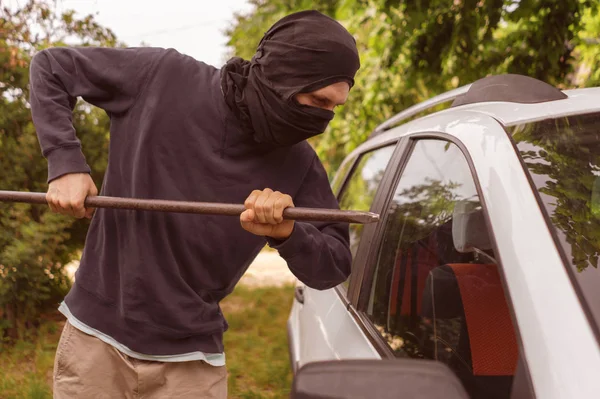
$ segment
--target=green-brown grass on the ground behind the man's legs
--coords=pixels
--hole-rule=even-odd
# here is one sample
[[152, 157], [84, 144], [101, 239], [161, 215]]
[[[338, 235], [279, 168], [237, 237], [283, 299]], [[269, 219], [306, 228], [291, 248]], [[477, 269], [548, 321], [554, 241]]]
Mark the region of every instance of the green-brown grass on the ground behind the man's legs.
[[[221, 307], [229, 322], [225, 352], [232, 399], [289, 397], [286, 321], [293, 287], [239, 286]], [[52, 368], [62, 316], [45, 317], [34, 336], [0, 346], [0, 399], [52, 398]], [[0, 343], [0, 345], [2, 345]]]

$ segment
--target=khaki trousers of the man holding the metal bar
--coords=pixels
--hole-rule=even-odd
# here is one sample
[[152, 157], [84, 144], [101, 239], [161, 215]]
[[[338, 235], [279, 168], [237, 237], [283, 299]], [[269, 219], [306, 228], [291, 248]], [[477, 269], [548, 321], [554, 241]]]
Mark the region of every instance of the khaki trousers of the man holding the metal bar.
[[227, 369], [134, 359], [67, 321], [54, 360], [54, 398], [225, 399]]

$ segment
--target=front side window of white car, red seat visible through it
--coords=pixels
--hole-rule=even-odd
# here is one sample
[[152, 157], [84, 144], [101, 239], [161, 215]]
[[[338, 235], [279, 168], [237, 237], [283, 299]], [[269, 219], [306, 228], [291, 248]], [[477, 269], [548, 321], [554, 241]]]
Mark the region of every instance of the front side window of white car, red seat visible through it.
[[419, 140], [386, 211], [363, 312], [397, 357], [441, 361], [472, 398], [508, 399], [519, 352], [496, 259], [465, 156]]

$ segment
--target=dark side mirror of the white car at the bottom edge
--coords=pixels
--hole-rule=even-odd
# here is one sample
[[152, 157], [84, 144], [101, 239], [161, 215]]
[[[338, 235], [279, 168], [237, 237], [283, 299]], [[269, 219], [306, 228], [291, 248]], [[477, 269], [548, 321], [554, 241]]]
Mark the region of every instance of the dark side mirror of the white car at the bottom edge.
[[292, 399], [469, 399], [458, 378], [431, 360], [333, 360], [309, 363], [294, 377]]

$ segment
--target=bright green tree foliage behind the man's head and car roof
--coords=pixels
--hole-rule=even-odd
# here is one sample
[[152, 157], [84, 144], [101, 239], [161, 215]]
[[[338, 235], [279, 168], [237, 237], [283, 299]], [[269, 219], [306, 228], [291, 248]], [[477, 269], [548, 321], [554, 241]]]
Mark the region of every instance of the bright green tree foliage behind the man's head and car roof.
[[336, 18], [357, 40], [362, 66], [350, 99], [311, 140], [330, 174], [386, 118], [487, 75], [518, 73], [559, 87], [600, 82], [595, 0], [252, 3], [227, 32], [233, 53], [247, 59], [272, 23], [302, 9]]

